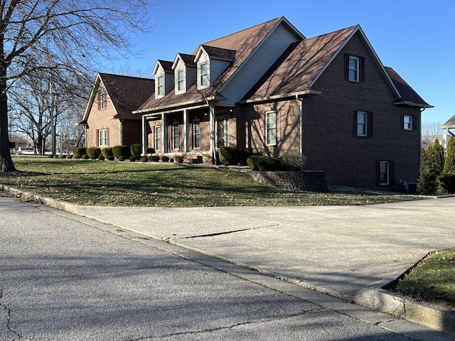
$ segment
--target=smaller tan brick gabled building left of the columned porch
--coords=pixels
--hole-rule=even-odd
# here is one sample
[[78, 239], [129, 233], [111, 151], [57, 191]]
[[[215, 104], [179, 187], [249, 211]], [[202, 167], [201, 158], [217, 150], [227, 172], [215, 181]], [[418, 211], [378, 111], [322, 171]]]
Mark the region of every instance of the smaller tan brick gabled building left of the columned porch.
[[85, 146], [119, 146], [141, 143], [141, 118], [133, 115], [154, 93], [154, 80], [99, 73], [84, 117]]

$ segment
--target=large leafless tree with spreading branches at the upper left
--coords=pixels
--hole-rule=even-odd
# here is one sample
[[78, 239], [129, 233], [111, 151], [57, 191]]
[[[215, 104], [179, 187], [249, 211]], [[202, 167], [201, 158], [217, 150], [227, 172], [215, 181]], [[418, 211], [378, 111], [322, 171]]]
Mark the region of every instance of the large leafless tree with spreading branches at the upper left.
[[[115, 53], [134, 53], [130, 34], [152, 28], [147, 0], [0, 0], [0, 171], [15, 171], [8, 137], [8, 94], [25, 75], [45, 70], [80, 77]], [[90, 72], [88, 72], [90, 73]]]

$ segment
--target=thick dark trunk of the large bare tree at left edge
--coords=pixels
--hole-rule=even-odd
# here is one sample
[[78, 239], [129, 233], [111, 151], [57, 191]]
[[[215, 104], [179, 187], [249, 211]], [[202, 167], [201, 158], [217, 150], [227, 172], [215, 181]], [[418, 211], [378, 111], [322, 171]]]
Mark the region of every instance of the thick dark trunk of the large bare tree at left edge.
[[9, 149], [6, 67], [0, 67], [0, 172], [16, 171]]

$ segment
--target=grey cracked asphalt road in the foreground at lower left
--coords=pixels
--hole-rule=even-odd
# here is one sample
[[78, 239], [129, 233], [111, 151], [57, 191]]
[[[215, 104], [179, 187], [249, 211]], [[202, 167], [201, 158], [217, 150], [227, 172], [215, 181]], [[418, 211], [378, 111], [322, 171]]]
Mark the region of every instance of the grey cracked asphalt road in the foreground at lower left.
[[449, 339], [0, 193], [0, 340]]

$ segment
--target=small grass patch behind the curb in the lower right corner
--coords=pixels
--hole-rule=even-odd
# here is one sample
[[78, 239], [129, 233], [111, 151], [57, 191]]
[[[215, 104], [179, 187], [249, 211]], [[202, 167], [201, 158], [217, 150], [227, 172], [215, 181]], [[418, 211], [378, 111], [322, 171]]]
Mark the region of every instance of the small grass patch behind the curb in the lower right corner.
[[398, 282], [396, 291], [455, 309], [455, 249], [434, 252]]

